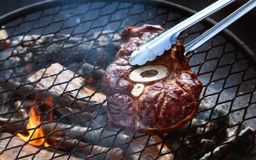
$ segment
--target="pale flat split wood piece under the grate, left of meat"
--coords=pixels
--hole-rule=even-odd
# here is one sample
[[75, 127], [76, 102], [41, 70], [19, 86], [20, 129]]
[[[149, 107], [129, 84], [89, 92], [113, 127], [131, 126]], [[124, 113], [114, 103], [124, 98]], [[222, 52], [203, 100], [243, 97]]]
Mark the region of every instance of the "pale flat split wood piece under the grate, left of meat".
[[[62, 71], [62, 70], [65, 71]], [[61, 72], [62, 71], [62, 72]], [[100, 71], [100, 70], [97, 70]], [[103, 71], [101, 71], [103, 72]], [[84, 98], [84, 97], [89, 97], [91, 95], [93, 95], [92, 97], [90, 97], [90, 101], [95, 101], [97, 103], [102, 103], [105, 100], [105, 95], [101, 94], [101, 93], [95, 93], [97, 89], [92, 88], [90, 86], [84, 86], [84, 82], [85, 79], [82, 77], [79, 77], [77, 74], [74, 74], [72, 71], [70, 70], [66, 70], [66, 68], [64, 68], [63, 66], [61, 66], [59, 63], [55, 63], [52, 64], [50, 67], [47, 68], [47, 70], [45, 71], [45, 69], [41, 69], [39, 71], [37, 71], [35, 74], [33, 74], [31, 77], [29, 77], [29, 81], [30, 82], [37, 82], [42, 75], [45, 75], [43, 79], [41, 79], [38, 83], [37, 86], [40, 89], [48, 89], [50, 88], [53, 84], [55, 84], [55, 86], [52, 86], [51, 89], [49, 91], [54, 91], [57, 92], [58, 94], [62, 94], [64, 91], [72, 91], [69, 92], [68, 94], [65, 94], [69, 97], [75, 97], [77, 95], [77, 98]], [[47, 75], [49, 74], [58, 74], [58, 77], [56, 78], [54, 77], [47, 77]], [[102, 73], [104, 74], [104, 72]], [[71, 82], [70, 79], [74, 78]], [[65, 82], [69, 82], [69, 83], [65, 83]], [[56, 83], [63, 83], [60, 85], [56, 85]], [[82, 87], [82, 88], [81, 88]], [[88, 87], [88, 88], [87, 88]], [[78, 89], [81, 89], [78, 93]], [[75, 90], [75, 91], [73, 91]], [[86, 104], [84, 105], [86, 106]], [[56, 107], [56, 106], [55, 106]], [[102, 107], [103, 108], [103, 107]], [[98, 107], [93, 107], [92, 109], [98, 109]], [[66, 107], [62, 107], [60, 109], [56, 109], [55, 111], [58, 111], [60, 114], [64, 115], [64, 114], [74, 114], [74, 113], [79, 113], [81, 111], [81, 109], [67, 109]], [[89, 111], [89, 109], [86, 109], [86, 111]], [[94, 111], [93, 111], [94, 112]], [[68, 116], [73, 122], [76, 121], [76, 119], [79, 116], [79, 120], [85, 120], [84, 118], [88, 119], [88, 118], [92, 118], [93, 116], [87, 117], [87, 112], [82, 112], [82, 114], [79, 116], [79, 114], [74, 114], [72, 116]], [[107, 121], [105, 121], [107, 122]]]

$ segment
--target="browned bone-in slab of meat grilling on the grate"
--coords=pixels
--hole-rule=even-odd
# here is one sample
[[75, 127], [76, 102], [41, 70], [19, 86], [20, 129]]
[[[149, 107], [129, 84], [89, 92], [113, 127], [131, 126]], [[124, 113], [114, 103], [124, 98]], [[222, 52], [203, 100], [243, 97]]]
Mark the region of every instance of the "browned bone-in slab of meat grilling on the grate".
[[195, 115], [202, 83], [191, 71], [184, 46], [172, 49], [143, 66], [131, 66], [131, 53], [164, 31], [161, 26], [127, 26], [122, 44], [103, 77], [109, 125], [156, 135], [178, 129]]

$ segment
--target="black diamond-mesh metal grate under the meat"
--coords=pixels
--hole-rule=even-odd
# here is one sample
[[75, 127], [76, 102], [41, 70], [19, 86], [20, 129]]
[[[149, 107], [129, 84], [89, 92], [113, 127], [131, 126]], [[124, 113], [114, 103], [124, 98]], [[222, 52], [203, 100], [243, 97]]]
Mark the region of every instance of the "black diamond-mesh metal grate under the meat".
[[[106, 100], [95, 103], [95, 105], [90, 105], [87, 103], [86, 106], [83, 106], [83, 109], [79, 110], [76, 113], [69, 114], [68, 109], [70, 106], [73, 105], [75, 102], [79, 102], [81, 100], [90, 101], [94, 94], [102, 92], [101, 88], [101, 80], [90, 80], [91, 75], [94, 71], [99, 69], [106, 69], [108, 64], [113, 60], [114, 55], [116, 53], [116, 49], [111, 49], [113, 43], [120, 43], [120, 39], [114, 40], [115, 35], [119, 35], [122, 29], [125, 26], [141, 26], [143, 24], [161, 24], [165, 29], [171, 28], [175, 24], [179, 23], [180, 21], [184, 20], [186, 16], [182, 13], [172, 12], [166, 9], [157, 8], [154, 6], [147, 6], [147, 5], [139, 5], [133, 3], [117, 3], [117, 2], [93, 2], [93, 3], [82, 3], [82, 4], [72, 4], [66, 6], [56, 6], [55, 8], [45, 9], [42, 11], [37, 11], [36, 13], [27, 14], [24, 17], [20, 17], [16, 20], [13, 20], [9, 23], [5, 24], [5, 28], [0, 28], [0, 30], [5, 29], [9, 37], [6, 39], [0, 40], [0, 50], [3, 51], [10, 51], [10, 55], [6, 57], [0, 58], [0, 77], [5, 78], [4, 81], [0, 83], [0, 87], [4, 88], [6, 83], [10, 80], [15, 80], [19, 82], [19, 86], [14, 89], [0, 89], [0, 117], [9, 119], [4, 125], [1, 126], [1, 131], [3, 132], [4, 128], [8, 125], [12, 125], [14, 123], [22, 122], [25, 123], [29, 117], [26, 119], [18, 120], [16, 122], [11, 122], [11, 118], [15, 117], [15, 114], [20, 109], [30, 109], [34, 105], [27, 105], [22, 107], [22, 104], [30, 99], [30, 97], [35, 97], [35, 94], [38, 92], [44, 93], [44, 97], [41, 97], [40, 100], [37, 102], [36, 106], [39, 106], [41, 103], [45, 102], [45, 98], [47, 97], [47, 93], [52, 89], [54, 86], [58, 85], [66, 85], [65, 89], [62, 94], [55, 98], [54, 104], [52, 105], [52, 109], [48, 111], [37, 113], [36, 115], [41, 115], [44, 117], [41, 120], [41, 123], [36, 127], [37, 129], [41, 126], [48, 124], [48, 123], [56, 123], [54, 129], [51, 133], [47, 134], [44, 137], [44, 143], [47, 141], [53, 133], [63, 130], [70, 130], [75, 126], [83, 126], [86, 124], [87, 131], [83, 134], [75, 137], [70, 137], [67, 134], [64, 136], [64, 139], [72, 139], [76, 138], [81, 141], [81, 137], [86, 136], [88, 132], [102, 129], [101, 134], [99, 135], [98, 139], [94, 143], [88, 143], [85, 146], [79, 146], [79, 143], [76, 145], [76, 148], [72, 151], [67, 151], [60, 155], [55, 155], [58, 153], [58, 149], [61, 147], [60, 144], [64, 142], [62, 140], [60, 143], [44, 147], [44, 143], [38, 147], [38, 151], [34, 154], [22, 155], [20, 156], [21, 152], [23, 151], [24, 146], [26, 146], [29, 142], [35, 140], [31, 138], [29, 141], [24, 142], [23, 145], [15, 146], [9, 148], [9, 143], [13, 137], [16, 137], [17, 133], [24, 133], [28, 130], [35, 129], [25, 129], [20, 130], [18, 129], [15, 134], [12, 134], [11, 137], [1, 138], [0, 141], [9, 139], [8, 143], [6, 144], [5, 151], [17, 149], [18, 154], [15, 160], [28, 158], [32, 156], [32, 159], [36, 159], [36, 155], [38, 152], [45, 150], [45, 149], [52, 149], [55, 147], [54, 154], [52, 155], [52, 159], [62, 157], [68, 155], [71, 157], [72, 155], [76, 154], [79, 148], [90, 147], [90, 157], [82, 157], [82, 158], [93, 158], [99, 155], [104, 155], [101, 159], [106, 159], [106, 155], [109, 151], [113, 148], [118, 148], [125, 146], [124, 155], [121, 159], [130, 158], [132, 155], [137, 155], [138, 159], [142, 159], [143, 152], [145, 149], [150, 148], [152, 146], [160, 146], [158, 155], [155, 157], [161, 158], [167, 154], [174, 154], [174, 159], [180, 159], [179, 151], [183, 147], [186, 146], [194, 146], [191, 154], [189, 154], [190, 159], [198, 159], [203, 157], [204, 154], [210, 152], [211, 156], [213, 151], [218, 146], [223, 146], [230, 142], [223, 142], [219, 139], [222, 137], [222, 132], [226, 131], [227, 129], [236, 128], [236, 139], [239, 139], [243, 136], [252, 136], [253, 138], [250, 141], [249, 146], [242, 150], [242, 151], [230, 151], [228, 158], [232, 158], [236, 155], [244, 156], [247, 158], [250, 154], [250, 149], [255, 147], [255, 131], [253, 133], [247, 135], [239, 135], [241, 128], [243, 125], [251, 126], [252, 128], [256, 128], [255, 124], [253, 123], [256, 118], [256, 74], [255, 70], [252, 66], [248, 64], [247, 59], [243, 56], [243, 52], [241, 52], [238, 48], [236, 48], [236, 44], [230, 42], [223, 34], [218, 34], [216, 37], [209, 40], [199, 49], [197, 49], [194, 53], [187, 56], [189, 60], [189, 64], [192, 68], [192, 71], [198, 74], [198, 79], [203, 83], [203, 91], [201, 93], [199, 102], [204, 105], [204, 103], [210, 104], [210, 107], [202, 109], [199, 107], [198, 114], [209, 114], [206, 123], [198, 124], [197, 126], [192, 126], [192, 120], [189, 123], [188, 128], [186, 129], [185, 134], [182, 136], [180, 140], [180, 145], [178, 145], [177, 149], [171, 150], [169, 152], [163, 151], [164, 144], [167, 144], [168, 139], [172, 136], [170, 132], [168, 135], [163, 136], [163, 141], [158, 143], [150, 143], [151, 136], [147, 136], [144, 134], [131, 134], [132, 139], [126, 143], [119, 143], [116, 144], [115, 140], [119, 136], [119, 134], [127, 134], [124, 129], [111, 129], [108, 126], [108, 123], [105, 123], [102, 126], [98, 127], [91, 127], [92, 123], [100, 116], [106, 115], [107, 112], [103, 109], [106, 103]], [[198, 35], [207, 31], [209, 26], [204, 25], [203, 23], [197, 24], [193, 26], [191, 29], [186, 31], [182, 36], [181, 40], [183, 44], [188, 43], [193, 38], [197, 37]], [[104, 32], [108, 31], [108, 32]], [[99, 33], [96, 37], [90, 37], [90, 34]], [[35, 39], [26, 40], [26, 36], [37, 34], [38, 37]], [[62, 39], [57, 39], [58, 34], [66, 34], [67, 36]], [[40, 41], [45, 36], [52, 36], [52, 40], [49, 43], [44, 45], [37, 45], [36, 43]], [[11, 40], [11, 42], [17, 40], [17, 37], [20, 36], [20, 43], [11, 44], [8, 47], [3, 47], [3, 44], [7, 40]], [[67, 46], [66, 44], [69, 43], [69, 40], [73, 37], [79, 36], [81, 40], [75, 42], [73, 45]], [[102, 36], [111, 37], [105, 45], [99, 45], [99, 39]], [[16, 39], [15, 39], [16, 38]], [[19, 53], [17, 50], [20, 47], [24, 46], [24, 43], [31, 43], [29, 48], [26, 51]], [[57, 50], [51, 50], [52, 46], [61, 43], [61, 48]], [[90, 48], [87, 51], [80, 51], [79, 46], [83, 45], [84, 43], [90, 43]], [[91, 56], [94, 51], [97, 49], [102, 49], [104, 51], [98, 57]], [[34, 58], [28, 59], [30, 53], [35, 53], [36, 51], [40, 50], [40, 55], [33, 55]], [[60, 58], [61, 54], [64, 54], [65, 51], [70, 52], [67, 57]], [[16, 63], [13, 65], [8, 65], [11, 63], [11, 60], [14, 58], [19, 58]], [[49, 58], [50, 57], [50, 58]], [[104, 62], [105, 63], [102, 63]], [[45, 72], [52, 64], [60, 63], [63, 66], [63, 69], [57, 73], [52, 75], [45, 75]], [[93, 70], [89, 73], [85, 74], [77, 74], [79, 73], [79, 69], [84, 63], [90, 63], [93, 65]], [[75, 65], [72, 65], [75, 64]], [[26, 69], [27, 66], [30, 66], [30, 69]], [[44, 69], [44, 73], [42, 76], [35, 82], [29, 82], [27, 79], [36, 71]], [[73, 77], [68, 80], [67, 82], [58, 83], [58, 76], [65, 72], [72, 70], [74, 75]], [[42, 89], [41, 91], [37, 91], [35, 89], [36, 85], [41, 81], [49, 77], [55, 77], [54, 82], [48, 89]], [[66, 90], [67, 86], [79, 77], [87, 77], [78, 89], [73, 90]], [[95, 91], [93, 94], [79, 98], [78, 95], [84, 87], [95, 85]], [[29, 94], [20, 95], [15, 92], [15, 90], [20, 89], [22, 86], [32, 86], [32, 90]], [[76, 93], [74, 100], [71, 103], [67, 103], [64, 105], [57, 105], [58, 101], [61, 99], [61, 96], [64, 94]], [[7, 97], [6, 97], [7, 95]], [[5, 96], [5, 97], [4, 97]], [[21, 100], [21, 104], [17, 109], [8, 110], [7, 112], [4, 111], [6, 106], [9, 104], [14, 103], [16, 100]], [[237, 101], [240, 101], [238, 103]], [[227, 113], [222, 115], [221, 117], [214, 116], [216, 108], [222, 106], [223, 110], [226, 110]], [[58, 117], [58, 119], [51, 120], [45, 122], [44, 120], [49, 116], [51, 111], [56, 111], [57, 109], [66, 107], [66, 112], [64, 115]], [[79, 120], [84, 111], [87, 109], [95, 108], [96, 114], [93, 115], [92, 118], [87, 120]], [[71, 126], [66, 129], [58, 129], [55, 130], [58, 123], [61, 123], [67, 120], [72, 115], [78, 115], [76, 121], [74, 121]], [[195, 119], [195, 118], [194, 118]], [[207, 125], [210, 123], [215, 123], [219, 119], [223, 120], [224, 126], [221, 128], [220, 131], [211, 133], [210, 135], [215, 136], [215, 146], [212, 149], [198, 152], [200, 147], [200, 142], [202, 139], [209, 137], [209, 134], [205, 135]], [[231, 123], [229, 123], [231, 122]], [[198, 140], [191, 143], [185, 143], [186, 136], [189, 134], [189, 131], [192, 129], [202, 128], [202, 133], [198, 134]], [[102, 137], [105, 131], [114, 131], [115, 134], [108, 135], [106, 137]], [[108, 138], [113, 138], [112, 144], [108, 147], [107, 151], [102, 151], [100, 153], [92, 154], [93, 147], [100, 142], [101, 140], [105, 140]], [[146, 138], [145, 147], [140, 151], [134, 151], [133, 153], [127, 153], [129, 150], [129, 146], [134, 140], [138, 140], [140, 138]], [[210, 157], [211, 157], [210, 156]]]

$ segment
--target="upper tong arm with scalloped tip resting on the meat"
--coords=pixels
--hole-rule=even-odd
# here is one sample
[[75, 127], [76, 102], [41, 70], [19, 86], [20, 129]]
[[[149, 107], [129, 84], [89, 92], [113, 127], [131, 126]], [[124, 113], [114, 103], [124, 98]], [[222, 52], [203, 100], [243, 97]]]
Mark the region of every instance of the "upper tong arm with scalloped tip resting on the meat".
[[225, 6], [229, 5], [234, 1], [235, 0], [218, 0], [206, 9], [203, 9], [192, 17], [189, 17], [188, 19], [177, 24], [172, 29], [158, 34], [147, 43], [141, 45], [137, 50], [135, 50], [131, 54], [129, 63], [131, 65], [143, 65], [147, 61], [154, 60], [156, 56], [160, 56], [165, 50], [169, 50], [172, 47], [172, 44], [175, 44], [177, 42], [178, 36], [186, 31], [186, 29], [188, 29], [195, 23], [204, 20], [206, 17], [210, 16], [211, 14], [224, 8]]

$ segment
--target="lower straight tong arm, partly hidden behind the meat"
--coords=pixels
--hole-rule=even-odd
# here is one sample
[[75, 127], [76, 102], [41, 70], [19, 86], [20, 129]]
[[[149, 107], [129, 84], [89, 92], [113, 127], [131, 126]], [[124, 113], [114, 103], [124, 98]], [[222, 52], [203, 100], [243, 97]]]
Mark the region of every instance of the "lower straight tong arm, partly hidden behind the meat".
[[249, 2], [245, 3], [243, 6], [241, 6], [239, 9], [234, 11], [232, 14], [221, 20], [221, 22], [217, 23], [215, 26], [213, 26], [211, 29], [206, 31], [201, 36], [197, 37], [192, 42], [185, 45], [185, 55], [187, 55], [189, 52], [194, 51], [198, 47], [200, 47], [202, 44], [207, 42], [209, 39], [214, 37], [216, 34], [218, 34], [220, 31], [224, 30], [238, 20], [240, 17], [242, 17], [244, 14], [246, 14], [248, 11], [252, 10], [254, 7], [256, 7], [256, 0], [250, 0]]

